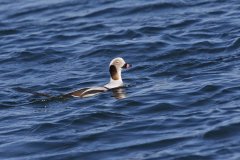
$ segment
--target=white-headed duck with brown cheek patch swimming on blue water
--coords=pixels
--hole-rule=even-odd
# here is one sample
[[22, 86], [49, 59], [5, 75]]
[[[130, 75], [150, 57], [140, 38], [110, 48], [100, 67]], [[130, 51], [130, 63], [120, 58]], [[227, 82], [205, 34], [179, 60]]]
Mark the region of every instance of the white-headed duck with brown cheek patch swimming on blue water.
[[109, 73], [110, 73], [110, 80], [107, 84], [100, 86], [100, 87], [87, 87], [82, 88], [73, 92], [68, 93], [68, 96], [72, 97], [90, 97], [97, 95], [102, 92], [106, 92], [108, 90], [120, 88], [124, 86], [122, 80], [122, 69], [128, 69], [132, 65], [125, 62], [125, 60], [121, 57], [114, 58], [111, 60], [109, 64]]

